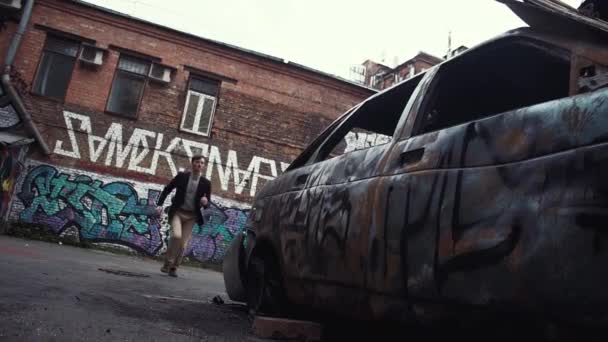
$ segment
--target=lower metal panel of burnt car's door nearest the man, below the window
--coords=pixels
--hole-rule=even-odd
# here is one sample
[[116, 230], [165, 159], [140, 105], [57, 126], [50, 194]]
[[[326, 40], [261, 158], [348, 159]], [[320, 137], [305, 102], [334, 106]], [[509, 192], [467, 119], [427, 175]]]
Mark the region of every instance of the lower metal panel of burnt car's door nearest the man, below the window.
[[284, 275], [296, 302], [356, 314], [372, 210], [368, 189], [386, 148], [352, 151], [292, 171], [291, 182], [302, 189], [281, 195], [275, 205], [281, 208]]

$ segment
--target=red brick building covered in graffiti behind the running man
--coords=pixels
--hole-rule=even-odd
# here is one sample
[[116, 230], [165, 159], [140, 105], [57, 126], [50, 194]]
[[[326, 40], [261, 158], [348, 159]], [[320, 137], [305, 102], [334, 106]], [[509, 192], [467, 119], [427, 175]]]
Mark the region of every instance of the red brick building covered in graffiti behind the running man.
[[14, 146], [5, 148], [14, 150], [14, 178], [0, 180], [9, 222], [158, 254], [166, 224], [153, 217], [153, 203], [202, 153], [215, 211], [189, 253], [221, 260], [256, 190], [374, 93], [80, 1], [35, 1], [15, 44], [32, 2], [1, 11], [11, 13], [2, 16], [2, 65], [18, 45], [0, 93], [0, 140]]

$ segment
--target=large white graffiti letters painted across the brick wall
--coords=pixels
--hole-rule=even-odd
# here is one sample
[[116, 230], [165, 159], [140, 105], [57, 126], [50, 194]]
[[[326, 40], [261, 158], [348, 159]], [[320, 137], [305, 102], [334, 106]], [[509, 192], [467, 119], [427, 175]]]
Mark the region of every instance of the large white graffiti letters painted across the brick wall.
[[[171, 173], [175, 175], [178, 168], [173, 159], [174, 154], [181, 152], [189, 158], [200, 153], [209, 159], [207, 178], [211, 179], [214, 170], [217, 170], [217, 177], [223, 191], [242, 194], [249, 185], [249, 195], [252, 197], [256, 193], [259, 179], [271, 180], [278, 175], [277, 162], [272, 159], [253, 156], [245, 171], [240, 169], [237, 152], [234, 150], [229, 150], [226, 159], [222, 161], [222, 155], [217, 146], [179, 137], [169, 140], [165, 139], [166, 137], [162, 133], [141, 128], [135, 128], [127, 143], [124, 144], [123, 139], [126, 137], [123, 137], [123, 126], [120, 123], [112, 123], [105, 135], [99, 136], [93, 134], [93, 125], [89, 116], [71, 112], [64, 112], [63, 116], [70, 146], [64, 146], [63, 140], [56, 141], [55, 153], [62, 156], [75, 159], [82, 158], [76, 137], [76, 133], [80, 132], [87, 136], [89, 160], [94, 163], [103, 160], [106, 166], [126, 167], [130, 171], [156, 175], [158, 163], [163, 160], [167, 163]], [[166, 148], [163, 148], [163, 144], [166, 144]], [[151, 149], [152, 151], [150, 151]], [[104, 152], [105, 159], [102, 159]], [[152, 154], [151, 158], [147, 158], [150, 154]], [[150, 160], [150, 164], [142, 165], [146, 159]], [[285, 171], [288, 166], [289, 164], [281, 162], [281, 172]], [[262, 169], [269, 170], [270, 174], [261, 174]]]

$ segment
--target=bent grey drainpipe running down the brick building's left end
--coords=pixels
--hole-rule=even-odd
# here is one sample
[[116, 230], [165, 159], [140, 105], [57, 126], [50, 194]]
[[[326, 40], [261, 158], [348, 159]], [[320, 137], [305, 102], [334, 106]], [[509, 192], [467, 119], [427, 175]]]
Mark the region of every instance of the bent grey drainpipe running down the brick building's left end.
[[25, 7], [23, 8], [23, 13], [21, 14], [21, 20], [19, 21], [19, 27], [17, 27], [17, 32], [15, 32], [15, 35], [13, 36], [13, 39], [11, 40], [11, 45], [9, 46], [8, 51], [6, 53], [6, 59], [4, 62], [4, 69], [2, 72], [1, 82], [2, 82], [2, 86], [4, 88], [4, 91], [6, 91], [6, 94], [8, 95], [13, 106], [15, 106], [15, 109], [17, 110], [17, 113], [19, 113], [19, 116], [21, 117], [21, 120], [23, 121], [25, 128], [34, 136], [36, 141], [38, 141], [38, 144], [40, 144], [40, 148], [42, 149], [42, 152], [48, 156], [51, 154], [49, 145], [47, 145], [44, 138], [42, 138], [42, 135], [40, 135], [40, 131], [38, 131], [38, 127], [36, 127], [36, 124], [34, 124], [34, 121], [32, 121], [32, 117], [30, 116], [30, 113], [27, 111], [27, 109], [25, 108], [25, 105], [23, 104], [23, 100], [21, 100], [21, 97], [19, 96], [19, 94], [13, 87], [13, 84], [11, 83], [11, 70], [13, 68], [13, 61], [15, 60], [15, 55], [17, 55], [17, 50], [19, 50], [19, 45], [21, 44], [21, 38], [23, 38], [23, 34], [25, 33], [25, 30], [27, 29], [27, 25], [30, 21], [30, 17], [32, 16], [32, 9], [34, 8], [34, 0], [24, 0], [24, 1], [26, 2], [26, 4], [25, 4]]

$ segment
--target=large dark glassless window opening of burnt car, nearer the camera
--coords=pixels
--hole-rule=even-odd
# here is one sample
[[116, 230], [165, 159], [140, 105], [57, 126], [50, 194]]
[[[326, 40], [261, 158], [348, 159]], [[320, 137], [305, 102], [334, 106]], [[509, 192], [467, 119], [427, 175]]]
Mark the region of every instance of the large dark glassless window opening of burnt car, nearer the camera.
[[514, 37], [470, 51], [439, 69], [416, 119], [423, 134], [567, 97], [568, 51]]

